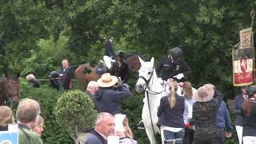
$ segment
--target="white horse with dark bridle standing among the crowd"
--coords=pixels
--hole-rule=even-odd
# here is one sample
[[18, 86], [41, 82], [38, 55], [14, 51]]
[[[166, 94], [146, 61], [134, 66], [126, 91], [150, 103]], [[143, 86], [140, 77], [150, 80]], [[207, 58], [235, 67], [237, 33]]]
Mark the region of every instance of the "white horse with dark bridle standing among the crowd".
[[146, 134], [150, 144], [156, 144], [155, 134], [160, 133], [158, 122], [158, 106], [160, 99], [166, 95], [162, 78], [158, 78], [154, 69], [154, 58], [150, 62], [144, 62], [139, 58], [141, 68], [138, 70], [139, 78], [136, 83], [136, 90], [140, 93], [145, 90], [144, 105], [142, 109], [142, 121], [146, 128]]

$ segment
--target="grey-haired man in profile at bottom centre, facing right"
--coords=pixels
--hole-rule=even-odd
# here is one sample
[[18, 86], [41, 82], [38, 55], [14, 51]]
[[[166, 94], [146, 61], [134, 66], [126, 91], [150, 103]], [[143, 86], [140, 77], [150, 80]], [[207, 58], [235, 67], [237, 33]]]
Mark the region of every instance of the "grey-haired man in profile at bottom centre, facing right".
[[114, 134], [114, 117], [109, 113], [100, 113], [95, 127], [85, 144], [107, 144], [107, 137]]

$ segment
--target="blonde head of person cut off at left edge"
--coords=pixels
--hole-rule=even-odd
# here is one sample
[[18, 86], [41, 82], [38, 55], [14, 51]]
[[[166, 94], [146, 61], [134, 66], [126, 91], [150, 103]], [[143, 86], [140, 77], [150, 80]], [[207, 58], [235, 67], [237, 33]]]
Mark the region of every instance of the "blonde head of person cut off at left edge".
[[8, 130], [8, 124], [13, 123], [13, 113], [8, 106], [0, 106], [0, 131]]

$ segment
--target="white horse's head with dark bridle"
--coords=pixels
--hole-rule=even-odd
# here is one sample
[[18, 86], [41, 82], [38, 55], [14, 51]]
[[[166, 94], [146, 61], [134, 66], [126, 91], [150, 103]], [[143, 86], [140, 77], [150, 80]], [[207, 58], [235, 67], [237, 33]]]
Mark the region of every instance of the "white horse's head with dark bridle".
[[151, 58], [150, 62], [144, 62], [142, 58], [139, 58], [141, 68], [138, 70], [138, 81], [135, 89], [138, 93], [144, 91], [149, 86], [150, 80], [154, 74], [154, 58]]

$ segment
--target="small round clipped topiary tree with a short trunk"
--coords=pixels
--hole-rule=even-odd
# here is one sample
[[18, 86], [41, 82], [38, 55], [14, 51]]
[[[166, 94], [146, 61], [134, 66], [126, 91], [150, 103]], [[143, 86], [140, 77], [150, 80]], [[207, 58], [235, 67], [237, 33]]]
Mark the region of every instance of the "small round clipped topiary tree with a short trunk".
[[78, 144], [78, 131], [82, 128], [92, 128], [97, 116], [94, 103], [82, 91], [73, 90], [58, 98], [54, 114], [59, 126], [66, 130], [74, 142]]

